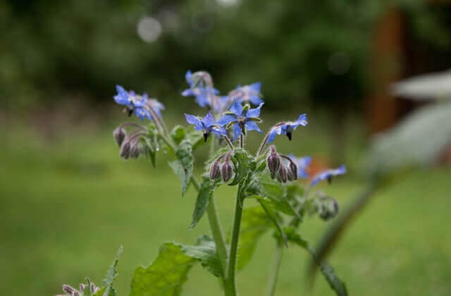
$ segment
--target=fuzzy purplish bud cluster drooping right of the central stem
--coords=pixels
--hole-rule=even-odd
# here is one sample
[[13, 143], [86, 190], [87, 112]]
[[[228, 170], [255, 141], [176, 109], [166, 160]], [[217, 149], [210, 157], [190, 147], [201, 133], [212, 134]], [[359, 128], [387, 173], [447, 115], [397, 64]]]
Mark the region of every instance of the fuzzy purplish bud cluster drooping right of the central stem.
[[[280, 183], [297, 180], [297, 165], [290, 157], [280, 155], [276, 152], [274, 146], [270, 147], [271, 152], [266, 159], [268, 169], [271, 172], [271, 178], [276, 178]], [[288, 160], [288, 166], [283, 164], [280, 157]]]

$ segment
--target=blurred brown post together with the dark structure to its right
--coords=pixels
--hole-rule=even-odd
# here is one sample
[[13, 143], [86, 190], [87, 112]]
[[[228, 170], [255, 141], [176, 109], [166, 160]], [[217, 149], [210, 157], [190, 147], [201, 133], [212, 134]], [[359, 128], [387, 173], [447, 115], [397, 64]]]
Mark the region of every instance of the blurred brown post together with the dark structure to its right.
[[[429, 1], [431, 9], [450, 11], [451, 1]], [[451, 29], [451, 19], [446, 20]], [[370, 134], [390, 128], [409, 111], [426, 101], [393, 97], [390, 85], [397, 80], [451, 68], [451, 52], [416, 39], [409, 16], [390, 8], [374, 27], [371, 42], [373, 89], [367, 99], [366, 115]]]

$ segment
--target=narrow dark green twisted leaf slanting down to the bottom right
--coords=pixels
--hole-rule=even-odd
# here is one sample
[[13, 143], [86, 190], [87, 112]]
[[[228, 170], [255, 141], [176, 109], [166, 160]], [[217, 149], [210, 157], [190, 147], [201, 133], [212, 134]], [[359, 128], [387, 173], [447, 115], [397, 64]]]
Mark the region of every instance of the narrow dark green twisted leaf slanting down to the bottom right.
[[[288, 241], [293, 242], [299, 247], [302, 247], [303, 249], [307, 250], [311, 254], [312, 257], [316, 258], [316, 254], [311, 247], [309, 247], [309, 244], [306, 240], [301, 238], [301, 236], [296, 232], [295, 228], [292, 227], [285, 227], [283, 228], [285, 235], [287, 235]], [[323, 274], [324, 278], [326, 278], [327, 282], [330, 285], [330, 288], [332, 288], [335, 293], [338, 296], [347, 296], [347, 289], [345, 283], [343, 283], [338, 276], [335, 275], [335, 271], [333, 270], [332, 266], [330, 266], [327, 261], [321, 261], [319, 263], [321, 273]]]

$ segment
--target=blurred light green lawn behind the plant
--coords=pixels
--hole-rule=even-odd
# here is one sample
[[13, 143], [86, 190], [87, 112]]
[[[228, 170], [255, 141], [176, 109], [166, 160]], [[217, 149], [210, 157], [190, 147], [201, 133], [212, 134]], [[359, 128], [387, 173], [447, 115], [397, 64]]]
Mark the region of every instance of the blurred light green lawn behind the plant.
[[[165, 167], [164, 156], [157, 171], [144, 159], [123, 161], [108, 128], [81, 130], [51, 142], [26, 130], [4, 132], [0, 148], [4, 295], [54, 295], [61, 284], [78, 285], [86, 276], [100, 283], [120, 245], [124, 252], [116, 287], [120, 295], [127, 295], [133, 270], [149, 264], [162, 242], [192, 243], [208, 233], [206, 218], [187, 230], [195, 194], [190, 189], [180, 197], [178, 179]], [[304, 140], [311, 138], [315, 141]], [[281, 149], [288, 149], [288, 141], [279, 141]], [[291, 144], [300, 155], [323, 154], [326, 142], [325, 135], [313, 128]], [[354, 164], [361, 151], [358, 146], [354, 141], [348, 152]], [[360, 179], [350, 173], [323, 189], [345, 205], [362, 189]], [[450, 189], [450, 171], [436, 168], [411, 173], [378, 192], [330, 257], [350, 295], [451, 295]], [[233, 188], [222, 186], [216, 200], [228, 229]], [[302, 225], [301, 232], [315, 242], [326, 227], [313, 219]], [[264, 293], [274, 247], [271, 234], [266, 234], [239, 275], [241, 295]], [[285, 252], [276, 295], [308, 294], [307, 259], [296, 247]], [[221, 295], [220, 291], [218, 281], [196, 266], [183, 295]], [[321, 276], [314, 295], [333, 295]]]

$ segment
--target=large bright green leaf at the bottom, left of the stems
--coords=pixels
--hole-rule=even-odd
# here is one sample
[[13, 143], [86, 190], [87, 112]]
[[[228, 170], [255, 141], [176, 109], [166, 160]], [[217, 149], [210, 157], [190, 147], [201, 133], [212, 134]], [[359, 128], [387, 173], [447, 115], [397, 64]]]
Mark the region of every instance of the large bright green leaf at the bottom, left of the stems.
[[166, 242], [148, 267], [138, 267], [130, 284], [130, 296], [178, 296], [187, 273], [196, 262], [180, 245]]

